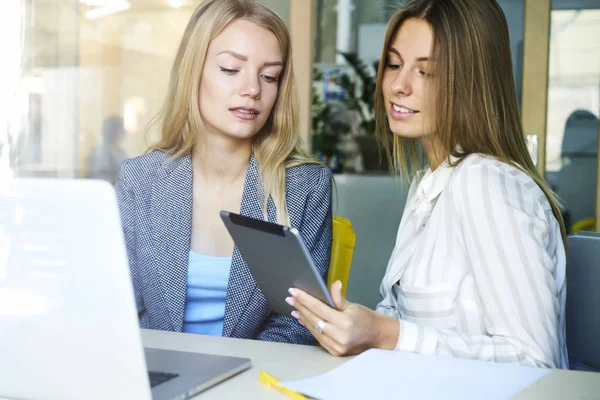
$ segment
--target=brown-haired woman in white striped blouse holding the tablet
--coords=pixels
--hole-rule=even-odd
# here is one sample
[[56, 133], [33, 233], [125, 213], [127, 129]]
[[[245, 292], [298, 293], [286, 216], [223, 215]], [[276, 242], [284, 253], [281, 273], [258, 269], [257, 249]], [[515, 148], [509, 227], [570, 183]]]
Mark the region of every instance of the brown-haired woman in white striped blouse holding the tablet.
[[[383, 300], [371, 311], [334, 284], [336, 311], [292, 288], [294, 316], [336, 355], [382, 348], [567, 367], [564, 226], [525, 146], [500, 6], [407, 1], [388, 24], [382, 66], [378, 133], [384, 146], [393, 135], [388, 156], [412, 179]], [[429, 166], [413, 171], [418, 143]]]

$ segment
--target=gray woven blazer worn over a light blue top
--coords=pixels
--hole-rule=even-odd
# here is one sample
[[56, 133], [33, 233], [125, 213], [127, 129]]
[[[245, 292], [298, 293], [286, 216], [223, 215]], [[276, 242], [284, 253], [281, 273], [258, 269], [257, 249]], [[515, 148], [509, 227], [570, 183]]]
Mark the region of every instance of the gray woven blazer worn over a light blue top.
[[[251, 157], [241, 214], [263, 219], [258, 165]], [[127, 255], [142, 328], [181, 332], [186, 301], [192, 221], [192, 163], [155, 151], [127, 160], [116, 182]], [[319, 165], [287, 170], [286, 202], [291, 225], [301, 233], [323, 279], [331, 252], [331, 173]], [[272, 199], [268, 218], [276, 222]], [[268, 252], [268, 249], [265, 249]], [[291, 316], [272, 312], [234, 247], [223, 336], [312, 344]]]

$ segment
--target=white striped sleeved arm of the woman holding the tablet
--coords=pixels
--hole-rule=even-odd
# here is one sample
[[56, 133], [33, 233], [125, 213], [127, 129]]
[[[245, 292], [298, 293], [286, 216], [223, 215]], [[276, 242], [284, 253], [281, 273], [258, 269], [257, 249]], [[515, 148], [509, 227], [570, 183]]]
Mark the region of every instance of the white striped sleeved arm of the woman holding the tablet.
[[400, 321], [397, 349], [461, 358], [559, 367], [556, 264], [541, 191], [509, 172], [472, 166], [452, 187], [457, 221], [482, 302], [485, 334]]

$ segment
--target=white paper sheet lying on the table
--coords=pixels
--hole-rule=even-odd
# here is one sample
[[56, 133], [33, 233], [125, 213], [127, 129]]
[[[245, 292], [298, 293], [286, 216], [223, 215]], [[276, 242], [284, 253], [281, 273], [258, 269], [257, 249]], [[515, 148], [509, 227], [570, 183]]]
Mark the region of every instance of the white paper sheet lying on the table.
[[369, 350], [311, 379], [282, 385], [317, 399], [508, 399], [550, 370]]

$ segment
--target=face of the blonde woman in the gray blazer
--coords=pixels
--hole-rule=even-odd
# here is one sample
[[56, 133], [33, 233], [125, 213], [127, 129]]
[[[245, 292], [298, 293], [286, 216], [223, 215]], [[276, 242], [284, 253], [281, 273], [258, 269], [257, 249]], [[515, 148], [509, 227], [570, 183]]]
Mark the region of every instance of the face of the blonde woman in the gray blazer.
[[250, 139], [264, 126], [279, 88], [283, 56], [275, 34], [230, 23], [208, 47], [199, 106], [208, 135]]

